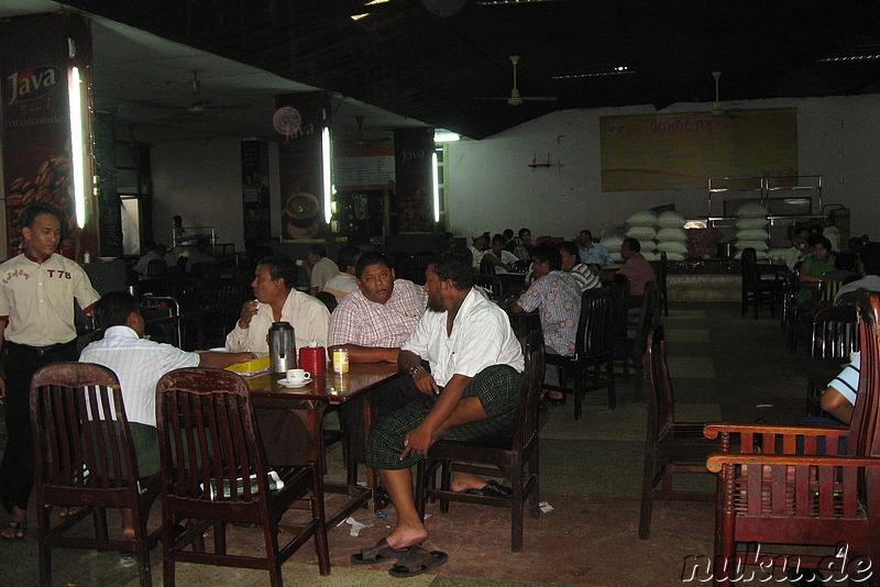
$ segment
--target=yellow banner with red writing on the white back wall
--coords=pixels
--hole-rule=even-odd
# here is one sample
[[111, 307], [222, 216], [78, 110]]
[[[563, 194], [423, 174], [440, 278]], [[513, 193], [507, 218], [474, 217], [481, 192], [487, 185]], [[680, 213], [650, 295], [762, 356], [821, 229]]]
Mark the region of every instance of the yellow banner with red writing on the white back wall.
[[798, 175], [798, 110], [600, 117], [602, 191], [705, 189], [710, 177]]

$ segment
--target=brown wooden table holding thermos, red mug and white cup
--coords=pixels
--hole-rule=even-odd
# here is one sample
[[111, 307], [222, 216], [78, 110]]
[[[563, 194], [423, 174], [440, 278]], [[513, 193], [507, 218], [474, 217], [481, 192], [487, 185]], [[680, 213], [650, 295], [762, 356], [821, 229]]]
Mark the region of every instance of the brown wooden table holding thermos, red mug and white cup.
[[[251, 402], [255, 408], [294, 410], [302, 418], [309, 436], [309, 461], [322, 465], [324, 448], [321, 419], [327, 406], [344, 403], [364, 396], [367, 399], [364, 402], [364, 430], [369, 431], [372, 411], [367, 392], [400, 375], [396, 364], [359, 363], [352, 364], [345, 375], [329, 372], [314, 375], [310, 384], [298, 388], [279, 385], [280, 375], [264, 374], [245, 377], [244, 380], [251, 390]], [[372, 469], [367, 469], [366, 487], [356, 485], [356, 475], [353, 480], [349, 475], [345, 484], [326, 484], [326, 492], [345, 494], [350, 497], [342, 509], [328, 519], [328, 525], [330, 528], [337, 525], [367, 500], [372, 512], [375, 508], [373, 495], [375, 486], [376, 477]]]

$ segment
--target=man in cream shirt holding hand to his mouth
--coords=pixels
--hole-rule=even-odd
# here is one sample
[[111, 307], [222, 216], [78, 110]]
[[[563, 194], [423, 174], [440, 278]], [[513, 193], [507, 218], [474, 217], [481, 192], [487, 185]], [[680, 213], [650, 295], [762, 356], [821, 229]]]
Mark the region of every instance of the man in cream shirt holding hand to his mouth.
[[317, 298], [294, 288], [296, 264], [286, 255], [260, 261], [251, 287], [255, 300], [246, 301], [241, 318], [227, 335], [227, 348], [234, 352], [268, 353], [268, 329], [273, 322], [289, 322], [296, 335], [296, 353], [311, 342], [327, 346], [330, 312]]

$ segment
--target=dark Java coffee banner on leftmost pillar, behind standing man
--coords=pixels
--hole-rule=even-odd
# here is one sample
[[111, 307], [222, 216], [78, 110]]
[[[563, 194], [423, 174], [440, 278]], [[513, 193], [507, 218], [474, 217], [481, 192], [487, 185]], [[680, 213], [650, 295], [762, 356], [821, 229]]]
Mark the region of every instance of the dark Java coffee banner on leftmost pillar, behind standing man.
[[35, 201], [61, 210], [65, 218], [62, 252], [73, 254], [76, 248], [67, 76], [76, 65], [82, 84], [88, 85], [90, 63], [91, 32], [78, 15], [40, 14], [0, 23], [0, 119], [10, 256], [21, 244], [19, 214]]

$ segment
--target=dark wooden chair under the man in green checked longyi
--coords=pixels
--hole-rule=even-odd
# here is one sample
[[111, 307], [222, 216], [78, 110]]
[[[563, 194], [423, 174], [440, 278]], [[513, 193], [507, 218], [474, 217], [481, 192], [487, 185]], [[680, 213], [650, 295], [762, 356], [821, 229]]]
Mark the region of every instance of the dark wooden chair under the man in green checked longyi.
[[[419, 461], [416, 469], [416, 505], [425, 517], [427, 498], [439, 499], [440, 510], [449, 511], [449, 501], [510, 508], [510, 550], [522, 550], [522, 517], [528, 501], [532, 518], [538, 516], [538, 401], [543, 383], [543, 334], [535, 331], [526, 339], [526, 369], [514, 427], [509, 438], [486, 442], [438, 441]], [[462, 461], [475, 464], [464, 464]], [[427, 483], [442, 467], [440, 488]], [[504, 476], [510, 479], [509, 498], [474, 496], [452, 491], [453, 470], [477, 475]]]

